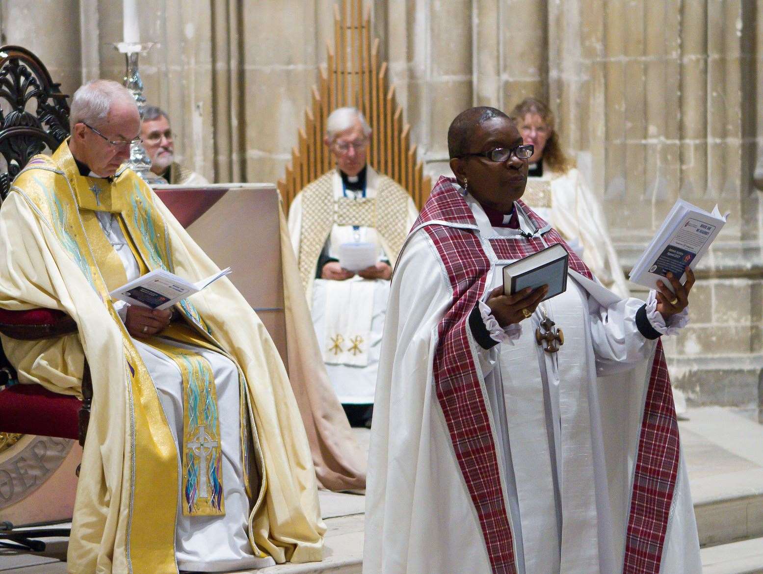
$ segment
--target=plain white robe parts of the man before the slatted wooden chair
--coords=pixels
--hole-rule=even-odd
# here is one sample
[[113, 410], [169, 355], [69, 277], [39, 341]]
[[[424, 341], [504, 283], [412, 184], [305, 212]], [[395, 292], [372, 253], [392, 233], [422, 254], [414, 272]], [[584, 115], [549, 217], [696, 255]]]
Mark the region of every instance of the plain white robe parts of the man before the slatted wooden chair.
[[[378, 174], [366, 167], [365, 197], [376, 196]], [[347, 196], [363, 197], [362, 192], [345, 191], [340, 173], [333, 173], [334, 200]], [[408, 202], [406, 226], [408, 229], [417, 218], [413, 200]], [[289, 207], [288, 226], [291, 244], [298, 249], [301, 235], [302, 205], [297, 195]], [[339, 259], [339, 247], [353, 241], [374, 243], [378, 260], [389, 260], [383, 241], [373, 227], [334, 224], [326, 241], [324, 253]], [[389, 295], [389, 281], [385, 279], [362, 279], [353, 276], [347, 282], [359, 285], [343, 285], [343, 281], [314, 279], [311, 291], [311, 314], [315, 334], [326, 359], [326, 370], [340, 402], [346, 405], [369, 405], [374, 401], [378, 360], [381, 352], [381, 332], [384, 328], [385, 311]], [[366, 312], [356, 312], [365, 308]], [[337, 339], [340, 336], [341, 339]], [[359, 337], [359, 339], [357, 338]], [[362, 340], [353, 350], [353, 343]], [[341, 341], [341, 342], [340, 342]], [[336, 345], [339, 347], [335, 347]], [[339, 351], [341, 348], [341, 351]], [[332, 351], [334, 349], [334, 351]], [[337, 353], [339, 351], [339, 353]], [[343, 357], [346, 358], [343, 360]]]

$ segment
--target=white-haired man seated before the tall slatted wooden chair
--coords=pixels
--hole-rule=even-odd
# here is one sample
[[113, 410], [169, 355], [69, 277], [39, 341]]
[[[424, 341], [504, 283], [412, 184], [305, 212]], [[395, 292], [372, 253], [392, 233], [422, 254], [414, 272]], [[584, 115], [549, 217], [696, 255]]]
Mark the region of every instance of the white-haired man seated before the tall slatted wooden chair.
[[298, 193], [288, 217], [318, 343], [353, 426], [371, 423], [389, 279], [417, 217], [405, 189], [367, 163], [370, 136], [362, 112], [334, 110], [324, 142], [336, 169]]

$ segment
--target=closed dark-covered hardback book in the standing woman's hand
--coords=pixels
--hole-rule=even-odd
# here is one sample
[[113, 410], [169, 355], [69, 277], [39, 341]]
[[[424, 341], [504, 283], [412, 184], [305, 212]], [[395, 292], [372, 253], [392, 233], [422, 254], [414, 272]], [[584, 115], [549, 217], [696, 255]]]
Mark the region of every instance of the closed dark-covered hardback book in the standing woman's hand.
[[504, 294], [549, 285], [543, 301], [565, 292], [569, 254], [559, 243], [504, 266]]

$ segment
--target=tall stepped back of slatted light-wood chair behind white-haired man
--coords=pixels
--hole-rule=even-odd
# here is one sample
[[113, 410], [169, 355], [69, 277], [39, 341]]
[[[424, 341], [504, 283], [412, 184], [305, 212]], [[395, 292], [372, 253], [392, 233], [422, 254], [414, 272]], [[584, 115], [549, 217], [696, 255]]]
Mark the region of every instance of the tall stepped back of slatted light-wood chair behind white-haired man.
[[318, 85], [313, 86], [298, 145], [291, 150], [285, 177], [278, 180], [287, 213], [295, 195], [333, 167], [324, 145], [326, 118], [344, 106], [358, 108], [371, 124], [371, 166], [406, 189], [418, 209], [429, 198], [431, 179], [423, 175], [416, 146], [410, 144], [410, 125], [403, 123], [394, 85], [388, 86], [387, 63], [379, 62], [379, 40], [371, 41], [370, 8], [364, 14], [362, 5], [362, 0], [334, 5], [334, 45], [327, 46], [327, 65], [321, 67]]

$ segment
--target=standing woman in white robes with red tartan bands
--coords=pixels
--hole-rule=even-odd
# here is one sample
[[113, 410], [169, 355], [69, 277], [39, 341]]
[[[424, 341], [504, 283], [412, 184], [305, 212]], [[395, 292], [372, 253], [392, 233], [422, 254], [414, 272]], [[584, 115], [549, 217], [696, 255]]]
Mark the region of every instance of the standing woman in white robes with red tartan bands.
[[[506, 114], [462, 112], [448, 144], [457, 179], [392, 277], [364, 574], [700, 572], [658, 340], [686, 324], [694, 276], [620, 299], [520, 201], [530, 150]], [[503, 295], [501, 267], [552, 243], [566, 292]], [[536, 340], [559, 327], [558, 350]]]

